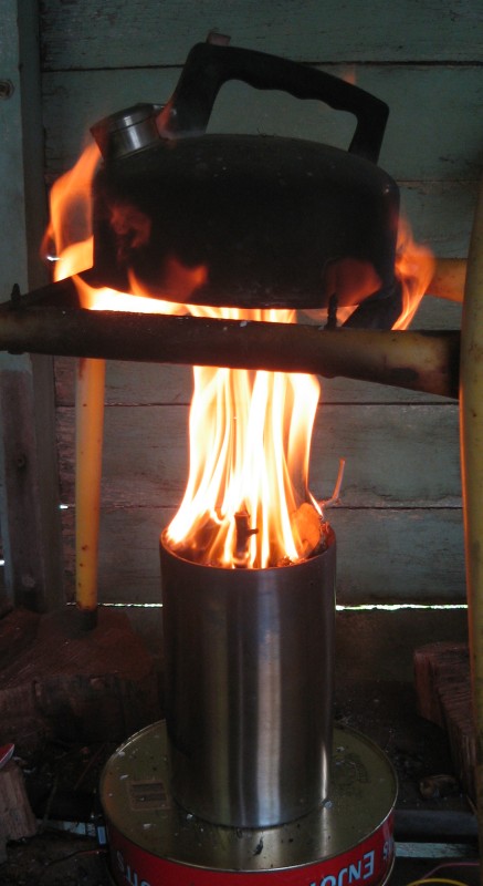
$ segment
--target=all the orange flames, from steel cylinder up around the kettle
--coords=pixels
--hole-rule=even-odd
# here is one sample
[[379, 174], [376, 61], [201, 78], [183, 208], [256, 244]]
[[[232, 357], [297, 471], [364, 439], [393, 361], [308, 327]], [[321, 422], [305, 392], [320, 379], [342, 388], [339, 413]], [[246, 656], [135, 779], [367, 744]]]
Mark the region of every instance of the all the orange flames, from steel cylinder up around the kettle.
[[[168, 269], [168, 282], [179, 302], [146, 297], [133, 275], [130, 292], [88, 286], [78, 275], [93, 265], [91, 183], [98, 161], [97, 148], [87, 148], [74, 168], [53, 186], [51, 223], [43, 246], [55, 262], [56, 280], [74, 276], [83, 308], [191, 312], [240, 322], [295, 322], [295, 313], [290, 310], [217, 309], [187, 303], [206, 280], [207, 269], [183, 268], [176, 258]], [[125, 225], [125, 212], [115, 215], [112, 224]], [[149, 237], [149, 225], [136, 209], [129, 214], [129, 226], [139, 238]], [[409, 323], [432, 275], [427, 250], [413, 244], [409, 247], [408, 243], [405, 230], [397, 262], [405, 291], [405, 311], [396, 324], [398, 329]], [[421, 279], [422, 257], [426, 276]], [[357, 262], [353, 264], [351, 274], [357, 278]], [[294, 564], [322, 549], [326, 524], [322, 507], [307, 486], [319, 400], [317, 379], [300, 373], [200, 367], [195, 367], [193, 375], [189, 477], [179, 511], [166, 533], [172, 549], [197, 563], [228, 568]]]

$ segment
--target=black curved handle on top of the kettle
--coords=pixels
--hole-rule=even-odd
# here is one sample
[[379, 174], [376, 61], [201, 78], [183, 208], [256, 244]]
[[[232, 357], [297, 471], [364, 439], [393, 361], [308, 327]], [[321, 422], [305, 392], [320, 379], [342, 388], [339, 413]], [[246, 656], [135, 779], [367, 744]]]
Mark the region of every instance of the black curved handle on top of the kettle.
[[389, 115], [388, 105], [365, 90], [325, 71], [255, 50], [197, 43], [178, 85], [159, 115], [161, 136], [196, 135], [206, 131], [220, 87], [242, 80], [261, 90], [282, 90], [296, 99], [319, 99], [357, 117], [349, 152], [377, 163]]

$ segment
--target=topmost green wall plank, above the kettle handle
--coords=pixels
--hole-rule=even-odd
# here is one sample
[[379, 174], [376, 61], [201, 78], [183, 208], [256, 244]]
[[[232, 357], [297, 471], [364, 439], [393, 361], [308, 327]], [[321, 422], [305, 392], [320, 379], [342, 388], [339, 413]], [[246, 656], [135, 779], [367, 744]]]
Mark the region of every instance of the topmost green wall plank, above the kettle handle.
[[481, 61], [482, 23], [475, 0], [42, 3], [46, 70], [179, 65], [213, 29], [301, 61]]

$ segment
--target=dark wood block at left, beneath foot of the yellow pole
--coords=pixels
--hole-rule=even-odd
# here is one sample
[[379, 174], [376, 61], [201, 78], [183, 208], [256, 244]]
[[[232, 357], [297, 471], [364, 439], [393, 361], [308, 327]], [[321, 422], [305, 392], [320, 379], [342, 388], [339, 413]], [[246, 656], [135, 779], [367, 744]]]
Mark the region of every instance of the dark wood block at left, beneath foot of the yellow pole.
[[0, 620], [0, 744], [28, 754], [46, 738], [120, 742], [159, 719], [158, 674], [127, 616], [101, 608], [91, 631], [76, 616]]

